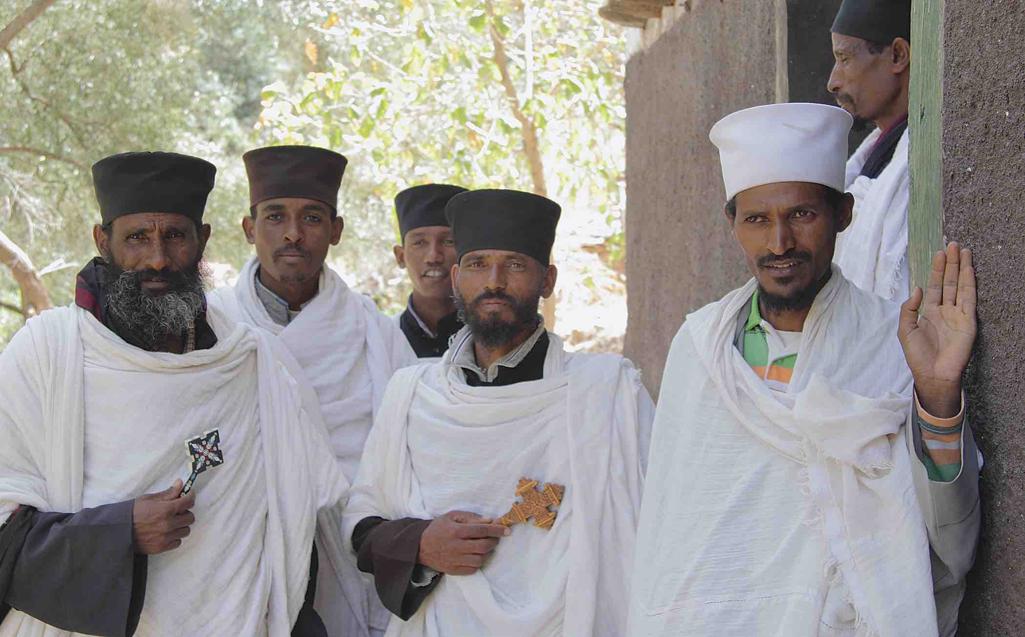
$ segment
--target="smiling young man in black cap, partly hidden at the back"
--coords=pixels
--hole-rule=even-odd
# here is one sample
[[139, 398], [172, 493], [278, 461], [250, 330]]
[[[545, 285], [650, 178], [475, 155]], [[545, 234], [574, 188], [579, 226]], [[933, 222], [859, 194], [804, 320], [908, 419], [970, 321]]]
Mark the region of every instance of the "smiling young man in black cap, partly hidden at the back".
[[441, 359], [449, 339], [462, 329], [452, 297], [455, 241], [445, 218], [449, 200], [466, 188], [444, 183], [414, 185], [395, 198], [402, 245], [395, 260], [409, 272], [413, 293], [396, 320], [422, 360]]

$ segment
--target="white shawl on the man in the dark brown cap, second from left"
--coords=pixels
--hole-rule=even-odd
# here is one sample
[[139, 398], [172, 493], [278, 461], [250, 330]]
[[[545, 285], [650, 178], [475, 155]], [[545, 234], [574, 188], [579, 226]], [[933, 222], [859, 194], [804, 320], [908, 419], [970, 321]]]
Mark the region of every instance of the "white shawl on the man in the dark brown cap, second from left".
[[[317, 296], [287, 326], [278, 325], [256, 295], [258, 266], [259, 260], [250, 258], [235, 286], [209, 293], [210, 304], [281, 339], [317, 392], [331, 448], [352, 481], [387, 381], [396, 370], [414, 365], [416, 355], [373, 300], [350, 290], [326, 264]], [[340, 508], [320, 515], [314, 607], [330, 635], [367, 637], [370, 628], [383, 630], [389, 614], [373, 587], [342, 555], [340, 515]]]

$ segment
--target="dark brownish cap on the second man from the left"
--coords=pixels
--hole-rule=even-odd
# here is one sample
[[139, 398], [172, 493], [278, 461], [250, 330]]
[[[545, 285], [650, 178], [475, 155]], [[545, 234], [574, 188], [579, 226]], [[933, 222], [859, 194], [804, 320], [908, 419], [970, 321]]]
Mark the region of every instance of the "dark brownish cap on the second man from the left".
[[317, 146], [265, 146], [242, 156], [249, 177], [249, 207], [269, 199], [297, 198], [323, 202], [338, 210], [338, 186], [348, 163]]

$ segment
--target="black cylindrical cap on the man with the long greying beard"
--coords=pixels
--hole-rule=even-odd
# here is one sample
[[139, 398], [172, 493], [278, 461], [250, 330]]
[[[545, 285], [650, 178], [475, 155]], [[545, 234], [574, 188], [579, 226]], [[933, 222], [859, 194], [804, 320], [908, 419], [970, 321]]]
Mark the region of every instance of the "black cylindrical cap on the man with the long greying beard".
[[129, 214], [170, 212], [203, 222], [217, 168], [177, 153], [121, 153], [92, 165], [102, 224]]

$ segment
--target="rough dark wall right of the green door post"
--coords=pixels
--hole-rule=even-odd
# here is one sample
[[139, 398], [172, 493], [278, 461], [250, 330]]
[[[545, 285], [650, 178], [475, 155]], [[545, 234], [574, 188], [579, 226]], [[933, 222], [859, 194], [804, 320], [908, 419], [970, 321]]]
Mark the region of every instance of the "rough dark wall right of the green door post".
[[975, 251], [980, 333], [967, 390], [985, 456], [982, 540], [958, 635], [1019, 637], [1025, 634], [1025, 2], [946, 0], [942, 29], [943, 231]]

